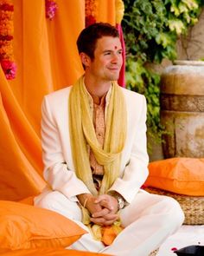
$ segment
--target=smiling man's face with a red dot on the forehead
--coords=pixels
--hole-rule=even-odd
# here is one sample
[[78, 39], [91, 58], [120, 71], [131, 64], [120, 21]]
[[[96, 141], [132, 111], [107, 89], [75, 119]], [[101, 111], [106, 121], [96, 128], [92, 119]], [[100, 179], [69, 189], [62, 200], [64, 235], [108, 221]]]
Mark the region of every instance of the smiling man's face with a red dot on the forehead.
[[94, 59], [88, 71], [104, 82], [118, 80], [123, 64], [122, 47], [118, 37], [104, 36], [97, 41]]

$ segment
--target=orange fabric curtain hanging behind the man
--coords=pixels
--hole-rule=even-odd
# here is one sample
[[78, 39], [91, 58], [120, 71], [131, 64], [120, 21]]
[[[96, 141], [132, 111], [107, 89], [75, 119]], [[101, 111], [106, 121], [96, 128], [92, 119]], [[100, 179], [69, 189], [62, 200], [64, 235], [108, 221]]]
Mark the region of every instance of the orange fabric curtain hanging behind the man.
[[[45, 0], [14, 0], [16, 79], [0, 68], [0, 200], [21, 200], [46, 185], [41, 162], [41, 100], [83, 73], [76, 39], [85, 1], [57, 0], [53, 20]], [[115, 24], [115, 0], [98, 0], [97, 21]]]

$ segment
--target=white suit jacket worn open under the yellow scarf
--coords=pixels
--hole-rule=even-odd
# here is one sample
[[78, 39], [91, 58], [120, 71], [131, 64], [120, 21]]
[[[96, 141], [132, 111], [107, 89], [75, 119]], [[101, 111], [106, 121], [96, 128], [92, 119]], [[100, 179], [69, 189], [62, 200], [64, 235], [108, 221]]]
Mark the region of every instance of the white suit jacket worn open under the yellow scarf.
[[[41, 144], [44, 178], [53, 190], [70, 200], [77, 194], [90, 193], [74, 172], [69, 139], [68, 98], [72, 87], [46, 95], [41, 105]], [[120, 177], [110, 190], [131, 203], [148, 175], [146, 150], [146, 101], [128, 89], [121, 90], [127, 108], [127, 137], [122, 152]], [[105, 108], [107, 108], [106, 103]]]

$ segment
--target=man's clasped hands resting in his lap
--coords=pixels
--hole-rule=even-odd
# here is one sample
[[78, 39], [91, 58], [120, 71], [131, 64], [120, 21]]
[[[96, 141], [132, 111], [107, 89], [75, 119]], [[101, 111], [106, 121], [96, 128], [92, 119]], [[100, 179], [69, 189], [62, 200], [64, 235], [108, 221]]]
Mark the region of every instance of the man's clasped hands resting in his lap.
[[78, 196], [80, 203], [91, 213], [90, 220], [101, 226], [110, 226], [118, 220], [118, 200], [109, 194], [93, 196], [92, 194], [81, 194]]

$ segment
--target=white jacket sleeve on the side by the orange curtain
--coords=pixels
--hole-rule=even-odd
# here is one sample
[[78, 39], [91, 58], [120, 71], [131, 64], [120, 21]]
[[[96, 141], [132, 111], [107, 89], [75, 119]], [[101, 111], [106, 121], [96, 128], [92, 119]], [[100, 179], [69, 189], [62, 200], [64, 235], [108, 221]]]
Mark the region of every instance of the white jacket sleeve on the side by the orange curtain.
[[77, 194], [90, 193], [86, 185], [76, 177], [75, 172], [67, 168], [59, 128], [46, 96], [41, 104], [41, 146], [43, 176], [53, 190], [61, 192], [70, 200], [77, 200]]

